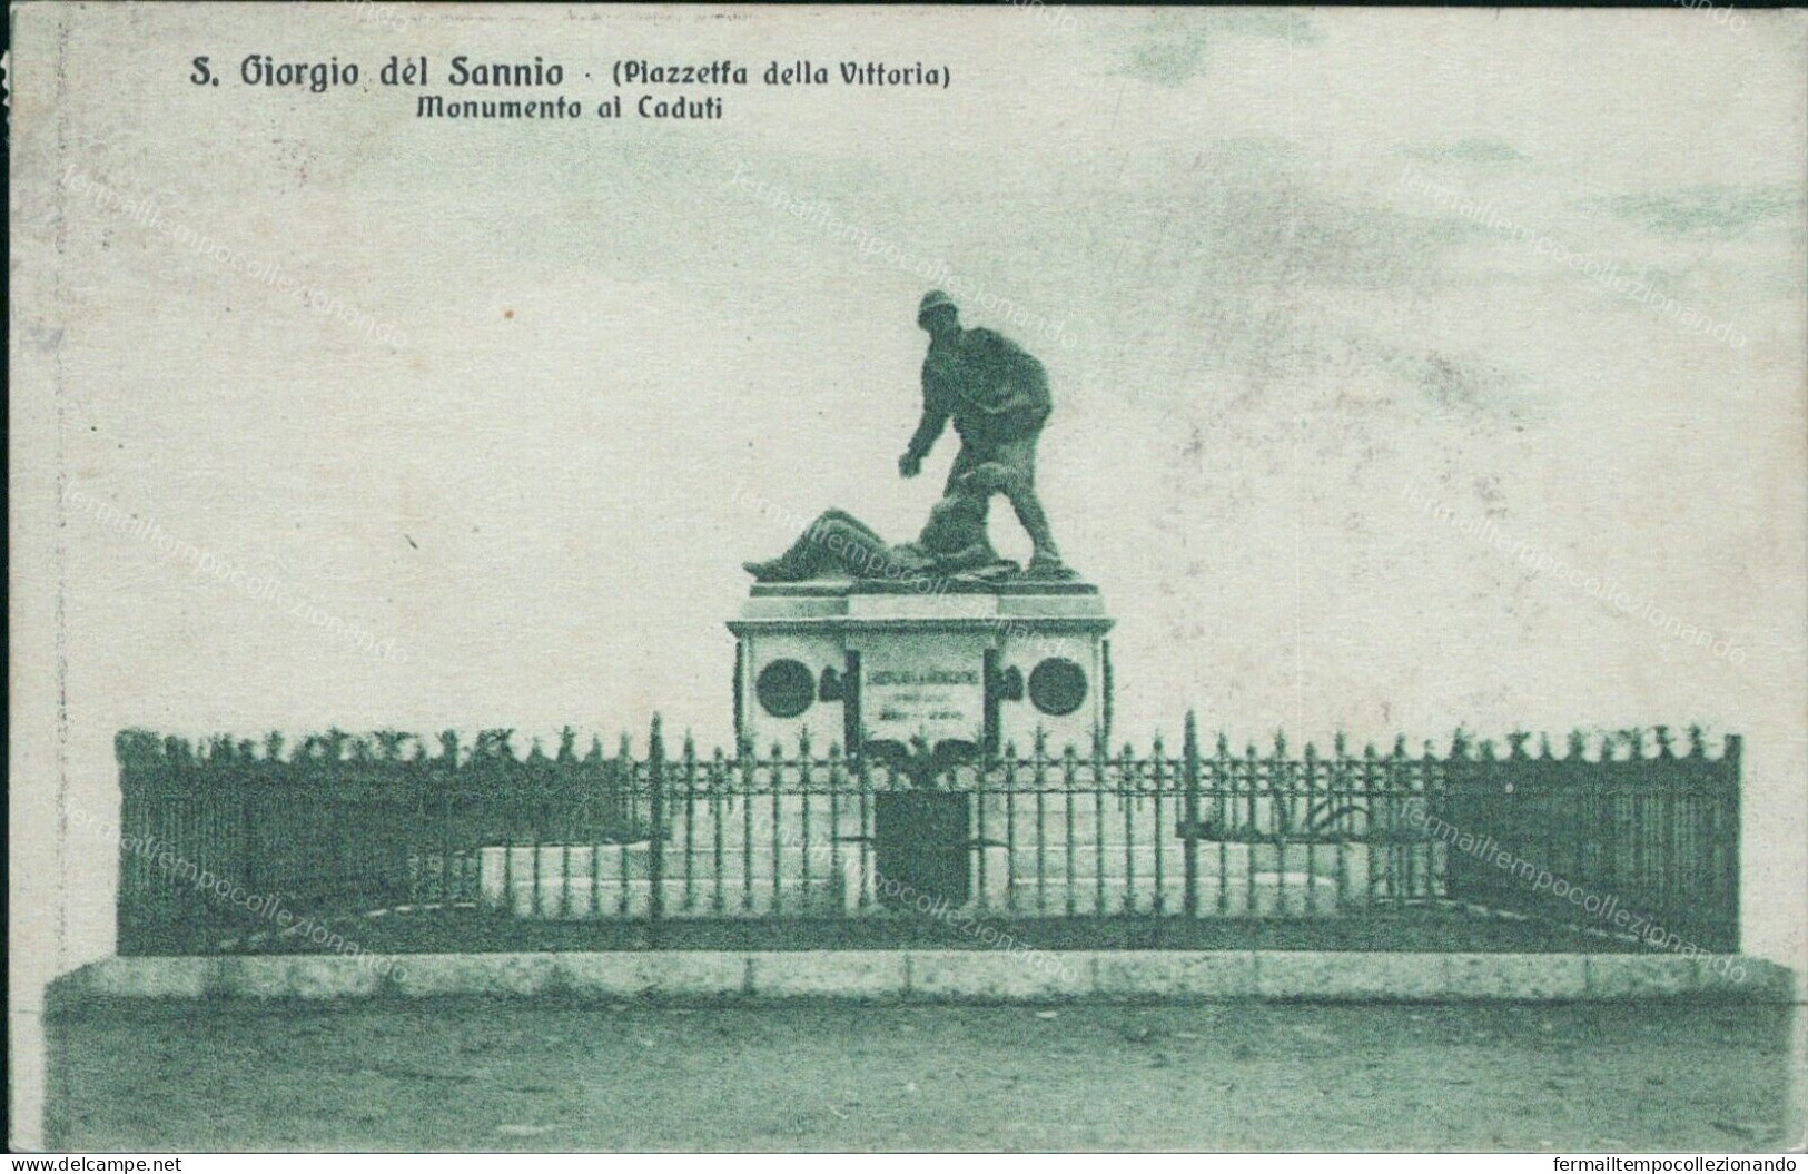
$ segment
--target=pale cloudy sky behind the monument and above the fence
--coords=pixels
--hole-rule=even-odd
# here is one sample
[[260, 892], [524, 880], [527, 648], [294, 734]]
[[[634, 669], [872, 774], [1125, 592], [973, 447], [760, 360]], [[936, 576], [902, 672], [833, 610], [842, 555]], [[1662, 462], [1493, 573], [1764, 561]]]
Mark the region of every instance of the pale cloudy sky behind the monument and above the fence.
[[[396, 11], [125, 5], [22, 52], [14, 501], [61, 523], [65, 805], [114, 818], [128, 725], [723, 742], [739, 563], [828, 507], [902, 541], [940, 487], [951, 440], [897, 474], [940, 273], [1049, 369], [1041, 494], [1126, 738], [1743, 733], [1752, 948], [1799, 953], [1797, 13]], [[678, 127], [188, 81], [248, 52], [541, 54], [591, 101], [618, 58], [949, 85]], [[61, 857], [72, 962], [112, 861]]]

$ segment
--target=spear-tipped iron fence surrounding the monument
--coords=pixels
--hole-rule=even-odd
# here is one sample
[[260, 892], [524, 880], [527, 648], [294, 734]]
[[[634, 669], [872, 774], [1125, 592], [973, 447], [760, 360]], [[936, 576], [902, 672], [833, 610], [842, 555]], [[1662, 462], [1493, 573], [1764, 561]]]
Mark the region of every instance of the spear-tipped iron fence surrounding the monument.
[[931, 767], [669, 756], [658, 720], [642, 754], [125, 731], [119, 944], [1737, 948], [1739, 738], [1528, 742], [1293, 756], [1188, 715], [1177, 756], [1038, 738]]

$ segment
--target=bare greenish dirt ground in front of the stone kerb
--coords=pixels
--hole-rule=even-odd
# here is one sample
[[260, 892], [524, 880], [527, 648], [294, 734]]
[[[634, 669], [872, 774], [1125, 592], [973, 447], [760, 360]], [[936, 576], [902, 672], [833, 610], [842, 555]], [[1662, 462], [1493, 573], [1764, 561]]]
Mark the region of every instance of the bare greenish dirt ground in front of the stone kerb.
[[1763, 1150], [1790, 1008], [119, 1004], [69, 1150]]

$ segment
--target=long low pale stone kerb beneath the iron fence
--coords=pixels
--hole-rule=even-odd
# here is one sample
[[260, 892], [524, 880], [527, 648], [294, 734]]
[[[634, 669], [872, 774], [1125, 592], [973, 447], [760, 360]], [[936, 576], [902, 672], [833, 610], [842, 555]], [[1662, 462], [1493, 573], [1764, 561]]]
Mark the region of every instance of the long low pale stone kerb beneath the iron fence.
[[114, 957], [63, 975], [52, 1008], [94, 999], [900, 1002], [1795, 1002], [1795, 975], [1750, 957], [1175, 950], [861, 950]]

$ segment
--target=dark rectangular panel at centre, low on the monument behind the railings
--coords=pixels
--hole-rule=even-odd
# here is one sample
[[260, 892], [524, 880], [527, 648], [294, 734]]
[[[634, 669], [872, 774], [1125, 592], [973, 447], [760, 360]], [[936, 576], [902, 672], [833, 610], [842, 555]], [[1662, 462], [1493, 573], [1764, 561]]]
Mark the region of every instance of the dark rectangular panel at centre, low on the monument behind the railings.
[[[973, 895], [973, 794], [890, 791], [873, 796], [873, 868], [879, 901], [891, 908]], [[922, 897], [928, 895], [928, 901]]]

